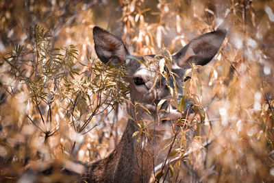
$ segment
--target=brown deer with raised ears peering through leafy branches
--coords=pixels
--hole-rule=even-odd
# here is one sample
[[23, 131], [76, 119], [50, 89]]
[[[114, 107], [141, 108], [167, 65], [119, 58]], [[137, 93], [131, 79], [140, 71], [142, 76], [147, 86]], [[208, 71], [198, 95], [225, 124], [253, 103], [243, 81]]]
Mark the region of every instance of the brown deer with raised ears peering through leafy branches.
[[[186, 70], [191, 68], [191, 64], [208, 64], [218, 53], [226, 34], [225, 29], [202, 34], [171, 55], [171, 71], [175, 73], [178, 97], [182, 97], [187, 79], [184, 78]], [[136, 120], [128, 118], [125, 132], [114, 150], [104, 159], [87, 162], [82, 179], [86, 182], [149, 182], [153, 172], [153, 158], [157, 158], [166, 132], [166, 121], [172, 123], [184, 114], [169, 103], [169, 81], [164, 78], [154, 81], [161, 56], [133, 56], [121, 38], [97, 26], [93, 28], [93, 40], [95, 52], [103, 64], [125, 64], [127, 75], [123, 80], [129, 84], [130, 101], [141, 103], [149, 110], [145, 112], [143, 108], [136, 109], [131, 105], [127, 109], [128, 114], [132, 117], [135, 115], [136, 120], [151, 121], [157, 115], [159, 102], [166, 99], [159, 114], [165, 120], [160, 121], [157, 127], [149, 127], [150, 135], [144, 143], [137, 141], [138, 136], [133, 136], [138, 131]], [[156, 62], [147, 68], [145, 63], [151, 60]]]

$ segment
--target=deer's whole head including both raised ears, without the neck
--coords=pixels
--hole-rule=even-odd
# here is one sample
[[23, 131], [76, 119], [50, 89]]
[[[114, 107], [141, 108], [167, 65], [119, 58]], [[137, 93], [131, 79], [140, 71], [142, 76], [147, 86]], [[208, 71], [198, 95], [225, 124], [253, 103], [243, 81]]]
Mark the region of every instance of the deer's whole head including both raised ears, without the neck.
[[[143, 108], [138, 108], [137, 120], [153, 120], [153, 117], [159, 113], [162, 119], [181, 117], [182, 114], [169, 104], [169, 100], [174, 99], [174, 96], [170, 96], [171, 88], [177, 89], [178, 100], [182, 98], [182, 88], [187, 79], [184, 77], [186, 69], [190, 68], [191, 63], [205, 65], [210, 62], [221, 47], [225, 34], [225, 31], [218, 30], [191, 40], [188, 45], [169, 58], [171, 71], [164, 67], [165, 72], [175, 73], [174, 77], [162, 77], [160, 75], [162, 56], [132, 56], [120, 38], [100, 27], [93, 29], [95, 51], [101, 62], [125, 64], [127, 68], [125, 80], [129, 83], [132, 103], [138, 102], [149, 110], [150, 114]], [[162, 104], [161, 112], [158, 110], [157, 114], [156, 108], [162, 99], [165, 99], [165, 102]], [[136, 113], [136, 108], [131, 108], [130, 113], [134, 115], [134, 112]]]

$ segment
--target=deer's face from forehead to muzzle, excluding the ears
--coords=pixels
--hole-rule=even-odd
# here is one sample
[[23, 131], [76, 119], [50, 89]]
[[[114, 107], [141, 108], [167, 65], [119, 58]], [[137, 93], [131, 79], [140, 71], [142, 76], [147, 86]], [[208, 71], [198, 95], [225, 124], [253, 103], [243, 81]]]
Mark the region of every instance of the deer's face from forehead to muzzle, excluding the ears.
[[[161, 110], [158, 110], [158, 114], [160, 114], [162, 119], [175, 119], [181, 117], [181, 114], [177, 110], [172, 110], [172, 106], [169, 105], [169, 100], [174, 99], [174, 96], [171, 97], [171, 88], [174, 89], [173, 84], [176, 84], [176, 97], [178, 100], [182, 98], [185, 69], [173, 63], [171, 71], [168, 71], [166, 67], [164, 70], [165, 72], [175, 73], [174, 77], [163, 77], [160, 74], [159, 61], [161, 59], [163, 59], [162, 56], [155, 55], [130, 56], [127, 58], [126, 78], [127, 82], [129, 82], [130, 98], [132, 103], [136, 101], [145, 106], [151, 112], [152, 118], [157, 115], [156, 108], [158, 103], [164, 99], [165, 102], [162, 104]], [[149, 117], [145, 113], [145, 110], [139, 108], [138, 117], [140, 119], [148, 119]]]

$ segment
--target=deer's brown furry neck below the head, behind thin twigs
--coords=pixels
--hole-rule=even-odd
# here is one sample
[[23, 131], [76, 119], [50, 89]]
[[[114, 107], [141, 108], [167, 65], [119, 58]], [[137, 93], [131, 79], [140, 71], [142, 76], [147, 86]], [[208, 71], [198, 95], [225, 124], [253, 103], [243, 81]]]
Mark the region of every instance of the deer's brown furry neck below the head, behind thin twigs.
[[155, 138], [149, 138], [142, 148], [138, 137], [132, 138], [137, 130], [136, 123], [129, 120], [114, 151], [107, 158], [88, 165], [88, 182], [149, 182], [161, 138], [155, 132]]

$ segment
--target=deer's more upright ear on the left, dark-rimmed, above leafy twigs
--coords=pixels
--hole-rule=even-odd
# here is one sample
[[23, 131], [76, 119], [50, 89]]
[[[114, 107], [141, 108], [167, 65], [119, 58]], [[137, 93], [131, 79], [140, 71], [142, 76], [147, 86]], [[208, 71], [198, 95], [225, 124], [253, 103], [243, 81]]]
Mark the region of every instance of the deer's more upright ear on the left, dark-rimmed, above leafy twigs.
[[97, 56], [104, 64], [123, 63], [130, 56], [123, 40], [101, 27], [93, 28], [93, 40]]

